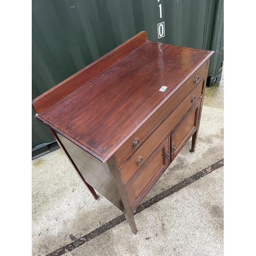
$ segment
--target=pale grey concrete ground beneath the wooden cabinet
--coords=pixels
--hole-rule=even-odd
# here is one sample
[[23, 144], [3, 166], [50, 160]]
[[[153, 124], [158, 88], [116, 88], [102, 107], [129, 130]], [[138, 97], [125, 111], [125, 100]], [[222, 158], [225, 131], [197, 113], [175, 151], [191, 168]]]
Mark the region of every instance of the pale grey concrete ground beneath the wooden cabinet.
[[[206, 88], [195, 153], [189, 141], [144, 201], [223, 159], [223, 88]], [[99, 195], [99, 194], [98, 194]], [[96, 228], [122, 215], [95, 200], [62, 150], [32, 161], [32, 255], [59, 255]], [[63, 255], [223, 255], [223, 167]]]

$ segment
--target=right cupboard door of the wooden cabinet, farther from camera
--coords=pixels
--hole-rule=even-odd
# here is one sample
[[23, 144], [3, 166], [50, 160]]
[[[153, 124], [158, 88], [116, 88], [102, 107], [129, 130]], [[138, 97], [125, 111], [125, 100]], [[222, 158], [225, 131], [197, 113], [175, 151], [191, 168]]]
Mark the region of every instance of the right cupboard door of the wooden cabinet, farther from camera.
[[198, 129], [198, 118], [201, 99], [187, 112], [183, 120], [171, 134], [170, 151], [171, 161], [179, 154], [183, 146]]

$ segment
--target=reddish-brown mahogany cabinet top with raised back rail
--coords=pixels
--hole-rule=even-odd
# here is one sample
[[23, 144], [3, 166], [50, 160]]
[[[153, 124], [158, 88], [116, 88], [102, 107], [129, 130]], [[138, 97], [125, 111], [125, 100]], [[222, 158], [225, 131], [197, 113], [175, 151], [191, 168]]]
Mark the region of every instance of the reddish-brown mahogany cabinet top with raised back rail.
[[[211, 51], [148, 41], [145, 31], [138, 36], [144, 39], [136, 49], [127, 50], [126, 47], [123, 57], [109, 65], [105, 64], [108, 55], [104, 56], [93, 66], [91, 72], [96, 72], [96, 75], [90, 80], [84, 78], [84, 82], [79, 78], [79, 87], [67, 91], [62, 99], [56, 96], [54, 102], [55, 92], [49, 90], [51, 100], [47, 101], [46, 92], [33, 101], [37, 119], [102, 162], [106, 162], [174, 89], [212, 54]], [[107, 68], [97, 74], [102, 65]], [[87, 69], [77, 74], [83, 71], [87, 72]], [[76, 75], [65, 81], [72, 79], [76, 84]], [[164, 92], [159, 91], [162, 86], [167, 87]], [[59, 93], [61, 87], [57, 87]], [[42, 98], [46, 105], [51, 102], [46, 110], [36, 107], [36, 101]]]

